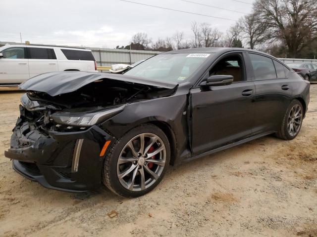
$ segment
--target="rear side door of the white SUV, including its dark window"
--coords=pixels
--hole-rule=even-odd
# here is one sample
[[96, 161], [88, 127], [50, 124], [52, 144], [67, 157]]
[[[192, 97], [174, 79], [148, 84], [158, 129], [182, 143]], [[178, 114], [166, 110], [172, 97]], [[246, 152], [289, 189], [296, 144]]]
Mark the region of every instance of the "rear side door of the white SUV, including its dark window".
[[29, 56], [30, 78], [42, 73], [58, 71], [56, 55], [53, 48], [27, 47]]

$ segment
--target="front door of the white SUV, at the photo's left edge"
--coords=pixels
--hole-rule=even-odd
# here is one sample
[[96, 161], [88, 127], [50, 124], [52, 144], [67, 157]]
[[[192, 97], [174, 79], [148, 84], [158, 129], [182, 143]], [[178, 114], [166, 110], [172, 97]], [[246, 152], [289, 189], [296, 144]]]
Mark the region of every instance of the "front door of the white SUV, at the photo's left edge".
[[16, 84], [29, 79], [29, 62], [25, 47], [10, 47], [1, 51], [0, 84]]

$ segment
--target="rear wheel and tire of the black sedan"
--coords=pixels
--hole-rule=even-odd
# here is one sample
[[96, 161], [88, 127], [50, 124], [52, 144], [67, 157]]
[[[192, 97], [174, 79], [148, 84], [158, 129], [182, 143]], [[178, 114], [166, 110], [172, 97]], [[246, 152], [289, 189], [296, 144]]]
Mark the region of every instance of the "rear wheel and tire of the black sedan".
[[284, 140], [294, 139], [302, 127], [303, 117], [302, 103], [298, 100], [293, 100], [286, 110], [279, 131], [276, 133], [277, 137]]

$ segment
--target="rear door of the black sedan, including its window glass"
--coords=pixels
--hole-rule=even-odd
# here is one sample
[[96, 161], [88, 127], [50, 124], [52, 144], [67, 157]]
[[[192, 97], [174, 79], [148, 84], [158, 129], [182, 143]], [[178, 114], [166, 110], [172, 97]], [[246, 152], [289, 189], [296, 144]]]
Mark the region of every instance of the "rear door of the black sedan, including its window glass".
[[292, 99], [295, 81], [280, 62], [261, 54], [248, 53], [256, 86], [253, 133], [277, 131]]

